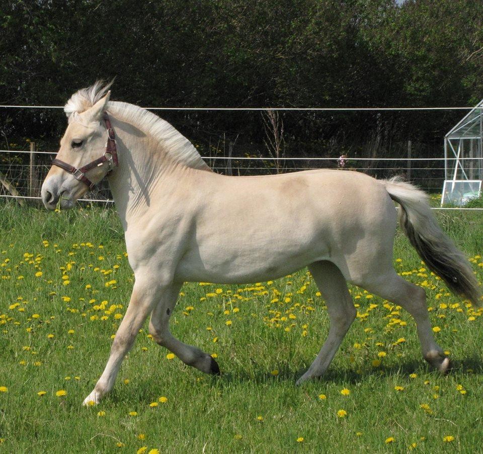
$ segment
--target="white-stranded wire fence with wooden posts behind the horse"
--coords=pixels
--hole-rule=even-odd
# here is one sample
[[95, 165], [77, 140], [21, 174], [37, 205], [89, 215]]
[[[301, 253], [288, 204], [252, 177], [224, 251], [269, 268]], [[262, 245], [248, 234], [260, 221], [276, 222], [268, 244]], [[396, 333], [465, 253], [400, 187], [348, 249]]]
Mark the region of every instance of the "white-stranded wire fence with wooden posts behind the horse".
[[[15, 109], [61, 109], [62, 106], [7, 106], [0, 108]], [[149, 107], [149, 110], [174, 111], [266, 111], [267, 108], [159, 108]], [[278, 111], [425, 111], [425, 110], [470, 110], [469, 107], [441, 107], [441, 108], [270, 108]], [[235, 139], [236, 140], [236, 139]], [[222, 146], [220, 144], [222, 143]], [[12, 144], [11, 144], [12, 145]], [[14, 144], [16, 145], [16, 144]], [[264, 175], [279, 172], [291, 172], [316, 168], [344, 168], [368, 173], [374, 177], [386, 178], [403, 175], [420, 188], [435, 193], [441, 193], [445, 179], [445, 162], [452, 161], [451, 157], [412, 157], [411, 142], [393, 143], [391, 156], [274, 156], [267, 153], [267, 143], [252, 144], [253, 153], [244, 156], [234, 156], [233, 143], [225, 143], [225, 137], [218, 133], [218, 138], [210, 138], [209, 143], [202, 147], [201, 155], [205, 162], [218, 173], [228, 175]], [[413, 144], [415, 149], [417, 144]], [[7, 148], [7, 147], [6, 147]], [[14, 147], [12, 147], [14, 148]], [[15, 147], [17, 148], [17, 147]], [[262, 150], [264, 151], [262, 153]], [[203, 152], [205, 151], [205, 152]], [[207, 151], [207, 152], [206, 152]], [[270, 150], [269, 150], [270, 151]], [[442, 138], [441, 153], [443, 154]], [[0, 150], [0, 198], [17, 200], [40, 200], [42, 182], [51, 167], [51, 159], [56, 151], [38, 149], [30, 145], [26, 149]], [[269, 154], [263, 156], [262, 154]], [[270, 155], [271, 154], [271, 155]], [[421, 150], [419, 153], [422, 154]], [[122, 156], [120, 156], [122, 159]], [[446, 161], [445, 161], [446, 159]], [[470, 159], [470, 163], [479, 162], [482, 158], [460, 157], [459, 160]], [[479, 165], [479, 164], [478, 164]], [[113, 202], [107, 181], [99, 185], [96, 193], [87, 195], [81, 201], [111, 204]], [[450, 209], [450, 208], [446, 208]], [[451, 208], [459, 209], [459, 208]], [[465, 209], [468, 210], [468, 209]], [[479, 209], [473, 209], [479, 210]]]

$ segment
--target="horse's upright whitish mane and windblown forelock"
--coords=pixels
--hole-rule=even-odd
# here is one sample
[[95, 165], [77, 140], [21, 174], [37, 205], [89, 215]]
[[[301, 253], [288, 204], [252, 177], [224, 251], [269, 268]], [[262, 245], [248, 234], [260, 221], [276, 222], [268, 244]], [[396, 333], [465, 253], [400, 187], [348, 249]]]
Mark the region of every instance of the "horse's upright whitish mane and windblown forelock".
[[[104, 85], [102, 81], [97, 81], [94, 85], [74, 93], [64, 106], [69, 122], [75, 118], [75, 114], [88, 110], [102, 99], [111, 83]], [[188, 167], [210, 170], [192, 143], [157, 115], [133, 104], [115, 101], [107, 104], [107, 111], [156, 139], [176, 161], [181, 161]]]

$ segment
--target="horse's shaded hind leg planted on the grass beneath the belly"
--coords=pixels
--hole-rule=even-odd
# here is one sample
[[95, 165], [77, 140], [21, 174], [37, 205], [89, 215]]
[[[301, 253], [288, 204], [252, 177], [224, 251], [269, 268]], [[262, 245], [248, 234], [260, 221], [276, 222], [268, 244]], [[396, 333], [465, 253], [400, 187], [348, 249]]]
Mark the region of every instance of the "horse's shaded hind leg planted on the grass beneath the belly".
[[308, 371], [298, 379], [297, 385], [311, 378], [320, 377], [326, 372], [356, 317], [352, 297], [339, 268], [332, 262], [319, 261], [309, 265], [308, 269], [326, 301], [330, 328], [324, 345]]

